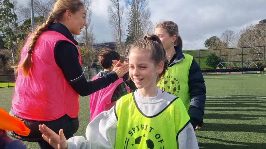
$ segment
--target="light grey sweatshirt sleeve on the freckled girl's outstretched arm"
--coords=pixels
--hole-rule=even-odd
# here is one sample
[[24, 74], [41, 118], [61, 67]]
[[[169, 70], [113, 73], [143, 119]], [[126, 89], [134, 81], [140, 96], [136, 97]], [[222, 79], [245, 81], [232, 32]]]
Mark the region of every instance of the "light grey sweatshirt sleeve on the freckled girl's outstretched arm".
[[90, 149], [90, 148], [114, 148], [116, 142], [117, 120], [114, 107], [101, 112], [87, 126], [86, 138], [75, 136], [67, 140], [67, 148]]

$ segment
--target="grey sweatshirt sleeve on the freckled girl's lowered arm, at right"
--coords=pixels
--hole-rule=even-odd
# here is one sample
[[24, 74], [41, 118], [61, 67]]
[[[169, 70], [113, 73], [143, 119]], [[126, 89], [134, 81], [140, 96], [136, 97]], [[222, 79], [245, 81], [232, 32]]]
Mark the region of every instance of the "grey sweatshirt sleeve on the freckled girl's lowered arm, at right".
[[198, 149], [198, 142], [194, 132], [194, 129], [189, 123], [177, 136], [177, 146], [179, 149]]

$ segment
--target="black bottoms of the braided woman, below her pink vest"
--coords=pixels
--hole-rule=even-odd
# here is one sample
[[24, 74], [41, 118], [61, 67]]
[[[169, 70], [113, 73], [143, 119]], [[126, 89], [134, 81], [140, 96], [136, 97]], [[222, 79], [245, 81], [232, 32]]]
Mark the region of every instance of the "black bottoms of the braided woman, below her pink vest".
[[20, 136], [14, 133], [13, 131], [9, 132], [9, 135], [11, 135], [12, 137], [23, 141], [29, 141], [29, 142], [42, 141], [43, 140], [42, 133], [39, 130], [39, 125], [42, 124], [46, 125], [48, 128], [50, 128], [57, 134], [59, 134], [60, 129], [63, 129], [65, 136], [73, 135], [74, 133], [77, 132], [79, 128], [78, 117], [71, 118], [67, 114], [60, 117], [59, 119], [51, 121], [36, 121], [36, 120], [23, 119], [21, 117], [18, 117], [17, 115], [14, 115], [12, 111], [10, 111], [9, 114], [11, 116], [17, 117], [20, 120], [22, 120], [22, 122], [26, 125], [26, 127], [30, 129], [30, 134], [28, 136]]

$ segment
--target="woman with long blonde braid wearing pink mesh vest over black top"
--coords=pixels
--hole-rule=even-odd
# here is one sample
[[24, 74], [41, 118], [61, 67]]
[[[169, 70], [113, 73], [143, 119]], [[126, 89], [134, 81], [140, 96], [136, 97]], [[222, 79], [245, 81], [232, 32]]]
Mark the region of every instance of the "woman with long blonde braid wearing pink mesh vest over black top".
[[43, 140], [39, 124], [56, 133], [64, 128], [66, 138], [72, 137], [79, 127], [79, 95], [103, 89], [129, 70], [128, 64], [119, 63], [104, 77], [87, 82], [78, 43], [72, 37], [87, 25], [82, 1], [57, 0], [46, 23], [30, 35], [21, 50], [10, 115], [20, 118], [31, 131], [28, 136], [10, 132], [14, 138], [52, 148]]

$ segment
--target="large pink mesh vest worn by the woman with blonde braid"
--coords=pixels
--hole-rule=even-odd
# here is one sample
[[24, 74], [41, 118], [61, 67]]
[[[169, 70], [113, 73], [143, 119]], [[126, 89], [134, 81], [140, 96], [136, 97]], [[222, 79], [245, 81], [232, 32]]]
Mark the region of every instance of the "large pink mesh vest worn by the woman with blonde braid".
[[[21, 50], [21, 60], [28, 51], [31, 36]], [[53, 48], [57, 41], [66, 40], [64, 35], [45, 31], [37, 39], [31, 54], [30, 73], [27, 77], [18, 71], [12, 112], [24, 119], [49, 121], [63, 115], [75, 118], [79, 112], [79, 94], [70, 86], [54, 58]], [[78, 51], [79, 52], [79, 51]], [[79, 62], [81, 58], [79, 52]]]

